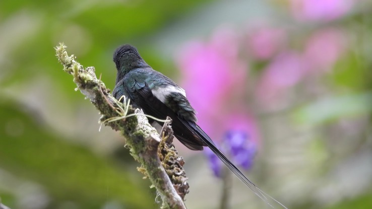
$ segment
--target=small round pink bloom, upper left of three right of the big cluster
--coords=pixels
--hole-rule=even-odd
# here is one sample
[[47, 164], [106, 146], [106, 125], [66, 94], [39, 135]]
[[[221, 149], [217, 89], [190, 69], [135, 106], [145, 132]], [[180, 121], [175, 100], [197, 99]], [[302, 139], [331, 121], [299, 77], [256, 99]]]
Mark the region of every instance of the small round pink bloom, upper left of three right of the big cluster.
[[260, 28], [249, 36], [248, 47], [258, 59], [269, 59], [285, 44], [285, 31], [279, 28]]

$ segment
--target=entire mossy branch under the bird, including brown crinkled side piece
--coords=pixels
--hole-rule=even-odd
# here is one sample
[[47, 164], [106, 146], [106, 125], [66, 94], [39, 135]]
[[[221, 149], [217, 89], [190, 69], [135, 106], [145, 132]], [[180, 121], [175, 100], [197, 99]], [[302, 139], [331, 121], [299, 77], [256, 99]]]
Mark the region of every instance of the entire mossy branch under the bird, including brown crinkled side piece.
[[157, 189], [162, 199], [161, 207], [186, 208], [183, 199], [189, 192], [189, 185], [182, 168], [183, 160], [177, 156], [172, 145], [170, 118], [164, 123], [160, 138], [142, 110], [134, 110], [125, 98], [121, 103], [109, 93], [110, 90], [97, 79], [94, 67], [84, 68], [75, 60], [74, 55], [68, 55], [63, 43], [59, 43], [55, 51], [64, 71], [73, 75], [77, 90], [101, 113], [101, 123], [120, 131], [126, 138], [131, 155], [141, 163], [139, 171], [143, 172]]

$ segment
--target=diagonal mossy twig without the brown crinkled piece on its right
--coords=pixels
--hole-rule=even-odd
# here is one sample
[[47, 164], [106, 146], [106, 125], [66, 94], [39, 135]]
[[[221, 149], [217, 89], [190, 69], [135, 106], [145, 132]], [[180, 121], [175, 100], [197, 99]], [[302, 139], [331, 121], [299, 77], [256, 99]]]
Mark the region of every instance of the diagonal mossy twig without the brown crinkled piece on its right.
[[[182, 198], [177, 194], [173, 179], [168, 177], [158, 156], [158, 146], [162, 142], [146, 116], [135, 112], [129, 102], [118, 102], [104, 83], [97, 79], [94, 67], [84, 68], [69, 56], [66, 46], [59, 43], [55, 47], [56, 56], [64, 66], [64, 71], [74, 76], [74, 82], [86, 98], [100, 111], [100, 121], [114, 130], [118, 130], [126, 138], [131, 155], [141, 163], [142, 171], [157, 189], [162, 199], [162, 208], [186, 208]], [[112, 119], [114, 118], [114, 119]], [[177, 165], [178, 166], [178, 165]], [[186, 182], [187, 183], [187, 182]], [[183, 196], [184, 197], [183, 193]]]

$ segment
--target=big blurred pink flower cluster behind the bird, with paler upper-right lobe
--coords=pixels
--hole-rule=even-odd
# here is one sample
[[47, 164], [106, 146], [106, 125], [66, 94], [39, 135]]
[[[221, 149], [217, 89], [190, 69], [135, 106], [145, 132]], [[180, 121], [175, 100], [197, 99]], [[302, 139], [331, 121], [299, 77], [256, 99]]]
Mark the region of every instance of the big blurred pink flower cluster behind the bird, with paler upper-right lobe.
[[[192, 42], [181, 49], [178, 66], [189, 101], [198, 111], [198, 124], [215, 133], [229, 97], [245, 93], [246, 64], [240, 61], [238, 41], [231, 30], [218, 30], [210, 42]], [[211, 135], [217, 136], [217, 135]]]

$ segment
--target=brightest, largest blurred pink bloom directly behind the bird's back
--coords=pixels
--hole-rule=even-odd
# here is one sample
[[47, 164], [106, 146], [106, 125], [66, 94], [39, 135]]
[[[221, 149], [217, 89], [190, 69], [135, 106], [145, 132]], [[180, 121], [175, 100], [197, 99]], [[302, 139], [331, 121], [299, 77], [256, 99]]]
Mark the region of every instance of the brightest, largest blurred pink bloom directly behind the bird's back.
[[[216, 114], [227, 86], [231, 83], [229, 60], [210, 45], [194, 42], [185, 46], [178, 58], [182, 84], [189, 101], [198, 111], [200, 126], [213, 132], [208, 122]], [[217, 109], [217, 110], [216, 110]]]

